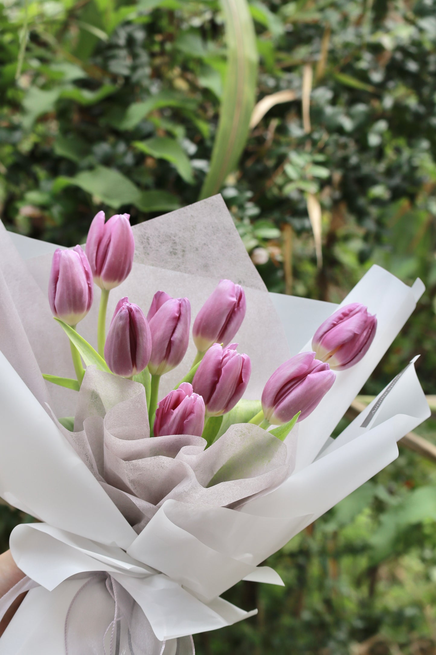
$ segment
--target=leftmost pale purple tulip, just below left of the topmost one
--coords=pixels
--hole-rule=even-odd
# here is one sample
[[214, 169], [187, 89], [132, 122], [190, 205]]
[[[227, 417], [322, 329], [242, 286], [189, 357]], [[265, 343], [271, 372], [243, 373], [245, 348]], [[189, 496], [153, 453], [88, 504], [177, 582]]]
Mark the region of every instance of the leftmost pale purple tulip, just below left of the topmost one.
[[92, 272], [82, 248], [55, 250], [48, 282], [48, 301], [54, 316], [75, 326], [88, 314], [92, 300]]

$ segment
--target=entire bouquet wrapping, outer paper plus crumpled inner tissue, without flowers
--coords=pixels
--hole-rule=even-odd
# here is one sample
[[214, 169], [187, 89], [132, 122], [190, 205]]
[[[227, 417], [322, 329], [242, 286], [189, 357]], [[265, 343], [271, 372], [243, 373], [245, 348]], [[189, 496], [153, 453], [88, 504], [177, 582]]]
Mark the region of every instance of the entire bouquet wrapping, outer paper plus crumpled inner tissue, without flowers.
[[[133, 231], [135, 263], [110, 293], [108, 321], [125, 295], [145, 311], [157, 290], [186, 296], [195, 317], [220, 279], [242, 284], [247, 312], [236, 340], [252, 359], [247, 399], [260, 398], [290, 355], [311, 349], [314, 331], [336, 309], [268, 294], [220, 196]], [[41, 371], [74, 377], [67, 337], [46, 297], [55, 248], [0, 226], [0, 495], [41, 521], [10, 537], [26, 578], [1, 599], [0, 614], [28, 593], [0, 639], [0, 655], [187, 655], [190, 635], [256, 612], [221, 599], [226, 589], [242, 579], [282, 584], [259, 564], [394, 460], [396, 441], [428, 417], [412, 363], [339, 437], [329, 437], [424, 285], [409, 288], [370, 269], [343, 301], [377, 314], [363, 360], [339, 371], [284, 443], [235, 424], [205, 451], [195, 436], [150, 439], [139, 383], [93, 367], [78, 394], [44, 382]], [[93, 346], [95, 291], [79, 326]], [[160, 397], [194, 356], [190, 343], [180, 367], [161, 379]], [[69, 432], [57, 419], [72, 416]]]

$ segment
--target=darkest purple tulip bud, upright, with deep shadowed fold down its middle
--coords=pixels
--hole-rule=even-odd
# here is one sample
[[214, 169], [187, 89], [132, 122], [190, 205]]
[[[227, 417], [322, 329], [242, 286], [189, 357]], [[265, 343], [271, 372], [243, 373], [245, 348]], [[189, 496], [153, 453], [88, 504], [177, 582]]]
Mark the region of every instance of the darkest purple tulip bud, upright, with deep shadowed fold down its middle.
[[112, 373], [131, 377], [148, 364], [152, 335], [138, 305], [122, 298], [115, 308], [105, 343], [105, 360]]

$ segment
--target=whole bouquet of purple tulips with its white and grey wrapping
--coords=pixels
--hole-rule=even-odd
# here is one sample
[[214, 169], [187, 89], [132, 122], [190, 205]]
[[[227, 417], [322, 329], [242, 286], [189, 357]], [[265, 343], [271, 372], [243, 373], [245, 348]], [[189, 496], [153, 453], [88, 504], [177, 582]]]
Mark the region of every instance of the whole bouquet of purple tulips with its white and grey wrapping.
[[282, 584], [260, 563], [428, 416], [411, 364], [330, 438], [422, 283], [373, 267], [339, 308], [269, 295], [219, 196], [134, 229], [99, 212], [85, 252], [14, 238], [0, 494], [39, 522], [10, 538], [26, 577], [0, 615], [29, 593], [0, 655], [192, 653], [256, 611], [220, 595]]

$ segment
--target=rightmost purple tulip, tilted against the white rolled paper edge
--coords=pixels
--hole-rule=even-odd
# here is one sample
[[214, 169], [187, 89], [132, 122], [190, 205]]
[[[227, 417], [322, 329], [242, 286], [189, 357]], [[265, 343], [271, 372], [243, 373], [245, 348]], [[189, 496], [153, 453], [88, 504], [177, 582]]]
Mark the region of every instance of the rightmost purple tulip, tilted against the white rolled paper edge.
[[377, 318], [360, 303], [341, 307], [318, 327], [312, 340], [316, 357], [343, 371], [360, 362], [373, 343]]

